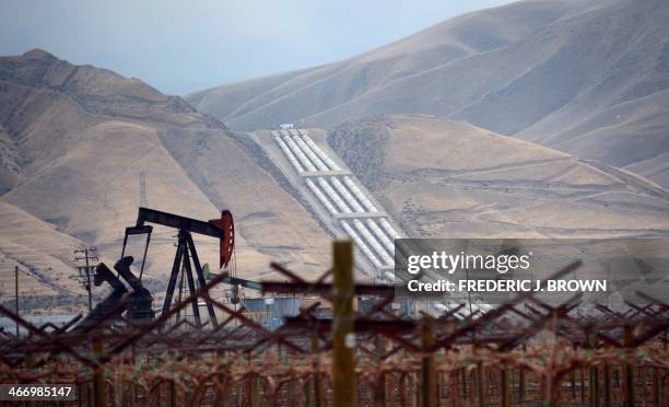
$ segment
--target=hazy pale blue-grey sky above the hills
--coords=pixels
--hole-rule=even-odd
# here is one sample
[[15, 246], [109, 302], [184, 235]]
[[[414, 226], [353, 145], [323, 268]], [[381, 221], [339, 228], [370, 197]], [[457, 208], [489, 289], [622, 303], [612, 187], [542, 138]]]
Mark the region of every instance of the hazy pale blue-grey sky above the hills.
[[43, 48], [184, 94], [343, 59], [508, 0], [0, 0], [0, 55]]

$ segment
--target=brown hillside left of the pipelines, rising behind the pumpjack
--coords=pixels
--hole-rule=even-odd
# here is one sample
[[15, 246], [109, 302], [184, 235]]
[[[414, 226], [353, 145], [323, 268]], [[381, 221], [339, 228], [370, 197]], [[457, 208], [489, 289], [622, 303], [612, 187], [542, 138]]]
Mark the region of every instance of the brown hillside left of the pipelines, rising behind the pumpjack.
[[[1, 201], [74, 237], [58, 247], [45, 243], [45, 253], [70, 258], [75, 242], [116, 259], [124, 228], [137, 217], [144, 172], [152, 208], [198, 219], [232, 210], [239, 275], [266, 274], [270, 259], [306, 274], [327, 267], [329, 237], [259, 167], [262, 158], [181, 98], [40, 50], [0, 58], [0, 88]], [[174, 233], [156, 228], [152, 239], [146, 281], [154, 290], [166, 286]], [[8, 230], [2, 237], [17, 239]], [[218, 243], [198, 241], [203, 260], [213, 263]], [[50, 272], [39, 265], [35, 270]]]

